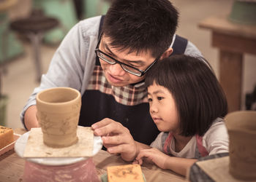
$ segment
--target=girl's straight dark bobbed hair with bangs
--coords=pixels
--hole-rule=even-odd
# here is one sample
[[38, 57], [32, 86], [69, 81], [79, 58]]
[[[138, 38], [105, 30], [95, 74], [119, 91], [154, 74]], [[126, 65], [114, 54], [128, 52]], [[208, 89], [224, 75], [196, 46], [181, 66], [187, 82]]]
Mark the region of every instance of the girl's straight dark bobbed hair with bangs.
[[202, 59], [173, 55], [159, 60], [146, 74], [146, 87], [155, 82], [173, 95], [184, 136], [203, 135], [214, 119], [227, 114], [225, 93]]

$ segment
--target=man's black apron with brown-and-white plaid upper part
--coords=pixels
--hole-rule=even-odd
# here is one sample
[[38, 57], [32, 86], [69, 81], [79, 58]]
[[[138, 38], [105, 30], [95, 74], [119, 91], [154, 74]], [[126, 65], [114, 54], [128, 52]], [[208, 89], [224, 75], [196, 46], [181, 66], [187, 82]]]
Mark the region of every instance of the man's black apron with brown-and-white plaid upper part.
[[97, 63], [82, 97], [79, 125], [89, 127], [104, 118], [120, 122], [135, 141], [148, 145], [159, 133], [149, 114], [145, 84], [114, 87]]

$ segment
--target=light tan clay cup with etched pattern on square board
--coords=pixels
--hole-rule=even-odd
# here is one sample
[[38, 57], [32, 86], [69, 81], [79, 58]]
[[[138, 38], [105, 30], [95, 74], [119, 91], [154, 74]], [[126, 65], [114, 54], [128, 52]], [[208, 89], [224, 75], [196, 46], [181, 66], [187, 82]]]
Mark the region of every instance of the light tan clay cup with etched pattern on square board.
[[69, 87], [55, 87], [37, 94], [37, 119], [45, 145], [53, 148], [78, 142], [81, 95]]

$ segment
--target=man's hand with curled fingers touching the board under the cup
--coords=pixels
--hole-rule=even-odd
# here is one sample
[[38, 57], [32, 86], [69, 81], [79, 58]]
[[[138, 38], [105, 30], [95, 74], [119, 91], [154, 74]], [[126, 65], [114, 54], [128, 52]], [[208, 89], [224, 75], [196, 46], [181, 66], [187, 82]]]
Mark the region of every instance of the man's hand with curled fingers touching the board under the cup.
[[122, 159], [132, 161], [138, 154], [138, 144], [133, 140], [127, 127], [112, 119], [91, 125], [94, 135], [102, 136], [103, 145], [110, 154], [121, 154]]

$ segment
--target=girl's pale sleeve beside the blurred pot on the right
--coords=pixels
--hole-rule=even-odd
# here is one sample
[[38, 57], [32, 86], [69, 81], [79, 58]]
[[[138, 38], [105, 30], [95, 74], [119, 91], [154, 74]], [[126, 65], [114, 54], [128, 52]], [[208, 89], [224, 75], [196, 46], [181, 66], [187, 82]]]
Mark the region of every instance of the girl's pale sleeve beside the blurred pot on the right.
[[214, 122], [203, 136], [203, 146], [209, 155], [228, 152], [229, 139], [224, 120]]

